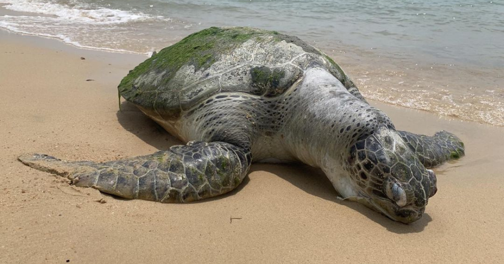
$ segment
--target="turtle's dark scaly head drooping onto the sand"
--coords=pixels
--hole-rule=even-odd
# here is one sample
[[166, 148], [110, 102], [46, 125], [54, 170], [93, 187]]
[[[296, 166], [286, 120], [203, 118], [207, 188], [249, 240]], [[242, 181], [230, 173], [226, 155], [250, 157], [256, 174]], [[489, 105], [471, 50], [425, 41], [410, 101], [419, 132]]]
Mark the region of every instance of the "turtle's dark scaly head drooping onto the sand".
[[399, 222], [420, 219], [437, 191], [434, 172], [392, 128], [380, 127], [357, 141], [347, 165], [357, 184], [358, 201]]

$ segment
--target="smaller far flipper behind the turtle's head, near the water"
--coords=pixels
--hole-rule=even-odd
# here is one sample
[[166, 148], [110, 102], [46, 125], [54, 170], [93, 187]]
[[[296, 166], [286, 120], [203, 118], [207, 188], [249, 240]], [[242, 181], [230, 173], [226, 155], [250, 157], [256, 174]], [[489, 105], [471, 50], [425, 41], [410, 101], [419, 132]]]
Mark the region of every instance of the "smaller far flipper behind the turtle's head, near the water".
[[427, 168], [464, 156], [464, 143], [445, 130], [436, 132], [434, 136], [417, 135], [406, 131], [397, 132]]

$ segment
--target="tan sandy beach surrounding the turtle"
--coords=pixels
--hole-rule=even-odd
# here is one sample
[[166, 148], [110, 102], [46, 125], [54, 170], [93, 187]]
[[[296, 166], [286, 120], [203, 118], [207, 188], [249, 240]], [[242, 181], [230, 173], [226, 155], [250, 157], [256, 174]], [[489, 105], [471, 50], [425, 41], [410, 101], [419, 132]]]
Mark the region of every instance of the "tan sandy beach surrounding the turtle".
[[145, 58], [0, 32], [0, 263], [504, 262], [502, 127], [372, 103], [398, 129], [446, 129], [466, 144], [464, 158], [435, 169], [439, 191], [410, 225], [339, 201], [303, 165], [256, 164], [222, 198], [161, 204], [72, 187], [16, 160], [105, 161], [177, 143], [131, 105], [118, 112], [117, 83]]

